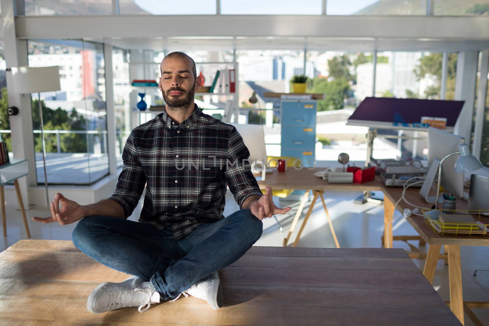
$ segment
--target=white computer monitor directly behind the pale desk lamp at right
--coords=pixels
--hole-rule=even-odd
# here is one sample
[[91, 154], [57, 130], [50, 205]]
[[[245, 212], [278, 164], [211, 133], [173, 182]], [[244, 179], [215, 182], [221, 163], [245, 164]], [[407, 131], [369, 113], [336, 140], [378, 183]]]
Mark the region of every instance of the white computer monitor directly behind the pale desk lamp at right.
[[[458, 146], [465, 143], [462, 136], [437, 128], [428, 128], [428, 169], [435, 158], [442, 160], [446, 155], [458, 152]], [[459, 154], [445, 159], [442, 164], [441, 185], [453, 196], [464, 197], [464, 174], [455, 172], [455, 162]]]

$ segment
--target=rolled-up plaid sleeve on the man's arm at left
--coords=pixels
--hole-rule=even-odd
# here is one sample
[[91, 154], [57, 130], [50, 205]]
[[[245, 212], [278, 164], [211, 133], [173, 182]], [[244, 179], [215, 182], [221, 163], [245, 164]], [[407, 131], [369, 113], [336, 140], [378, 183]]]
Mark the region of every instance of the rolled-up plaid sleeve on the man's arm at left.
[[122, 151], [122, 161], [124, 166], [119, 175], [117, 186], [114, 194], [108, 199], [119, 203], [124, 209], [124, 217], [127, 218], [133, 214], [146, 185], [146, 176], [144, 175], [137, 150], [134, 147], [133, 131], [129, 135]]

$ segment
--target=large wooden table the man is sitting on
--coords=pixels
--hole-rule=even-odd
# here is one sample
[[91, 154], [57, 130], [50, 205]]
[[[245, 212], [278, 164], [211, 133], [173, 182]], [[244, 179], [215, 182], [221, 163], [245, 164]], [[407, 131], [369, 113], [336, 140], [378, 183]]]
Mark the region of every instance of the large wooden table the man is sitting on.
[[252, 247], [219, 274], [220, 310], [181, 297], [93, 314], [93, 288], [128, 275], [71, 241], [21, 240], [0, 253], [0, 325], [460, 325], [402, 249]]

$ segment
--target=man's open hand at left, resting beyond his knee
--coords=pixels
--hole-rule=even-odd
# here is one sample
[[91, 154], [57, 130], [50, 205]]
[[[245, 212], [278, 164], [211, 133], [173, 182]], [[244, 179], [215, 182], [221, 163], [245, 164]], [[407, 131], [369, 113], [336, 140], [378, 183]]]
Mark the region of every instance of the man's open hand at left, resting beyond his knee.
[[[61, 202], [61, 209], [59, 203]], [[69, 200], [60, 193], [54, 196], [54, 203], [50, 204], [50, 217], [32, 217], [33, 221], [41, 223], [59, 222], [61, 225], [71, 224], [87, 216], [88, 209], [76, 201]]]

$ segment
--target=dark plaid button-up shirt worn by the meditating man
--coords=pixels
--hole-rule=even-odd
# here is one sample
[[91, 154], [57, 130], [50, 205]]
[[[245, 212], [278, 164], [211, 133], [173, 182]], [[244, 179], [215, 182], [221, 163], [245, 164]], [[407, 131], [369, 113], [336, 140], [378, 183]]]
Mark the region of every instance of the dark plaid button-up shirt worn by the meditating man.
[[251, 173], [249, 151], [236, 128], [202, 113], [197, 105], [179, 124], [164, 111], [134, 128], [122, 159], [114, 194], [129, 217], [146, 184], [139, 222], [158, 230], [171, 224], [175, 239], [203, 223], [224, 218], [226, 184], [240, 209], [248, 196], [263, 193]]

